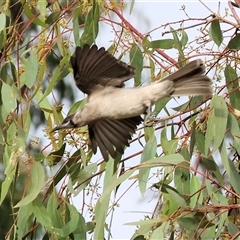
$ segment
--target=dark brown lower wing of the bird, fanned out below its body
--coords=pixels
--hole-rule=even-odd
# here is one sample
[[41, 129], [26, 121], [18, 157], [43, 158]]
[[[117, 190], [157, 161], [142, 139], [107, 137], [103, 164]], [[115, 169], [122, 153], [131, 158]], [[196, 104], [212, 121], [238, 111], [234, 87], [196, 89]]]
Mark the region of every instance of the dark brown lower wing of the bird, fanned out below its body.
[[89, 137], [95, 154], [99, 147], [105, 161], [108, 154], [113, 158], [117, 152], [124, 153], [124, 146], [129, 146], [132, 133], [142, 122], [141, 116], [125, 119], [101, 119], [89, 125]]

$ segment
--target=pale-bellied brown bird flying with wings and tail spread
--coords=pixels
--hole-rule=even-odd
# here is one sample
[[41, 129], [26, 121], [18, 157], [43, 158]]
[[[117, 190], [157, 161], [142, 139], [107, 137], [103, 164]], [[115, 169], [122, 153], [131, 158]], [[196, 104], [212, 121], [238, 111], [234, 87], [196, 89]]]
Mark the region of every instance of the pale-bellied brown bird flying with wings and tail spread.
[[212, 81], [201, 59], [191, 61], [175, 73], [147, 86], [125, 88], [135, 68], [118, 60], [104, 47], [77, 46], [70, 57], [76, 86], [87, 94], [85, 106], [52, 129], [88, 126], [92, 152], [105, 161], [114, 159], [129, 146], [132, 134], [157, 101], [171, 96], [211, 95]]

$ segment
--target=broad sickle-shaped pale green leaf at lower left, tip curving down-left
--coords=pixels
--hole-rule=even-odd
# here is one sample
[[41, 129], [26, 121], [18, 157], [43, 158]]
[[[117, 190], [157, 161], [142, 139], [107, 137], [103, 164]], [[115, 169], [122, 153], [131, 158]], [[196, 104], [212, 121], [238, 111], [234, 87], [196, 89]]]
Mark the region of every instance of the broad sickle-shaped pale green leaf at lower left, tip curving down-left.
[[27, 195], [17, 203], [15, 208], [31, 203], [42, 190], [44, 180], [45, 172], [43, 166], [38, 162], [33, 162]]

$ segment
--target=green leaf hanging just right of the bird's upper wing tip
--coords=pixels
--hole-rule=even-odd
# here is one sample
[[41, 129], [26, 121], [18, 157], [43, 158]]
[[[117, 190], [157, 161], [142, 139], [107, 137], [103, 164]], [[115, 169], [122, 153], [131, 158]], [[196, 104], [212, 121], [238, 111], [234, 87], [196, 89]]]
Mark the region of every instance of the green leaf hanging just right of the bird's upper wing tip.
[[136, 73], [134, 76], [135, 85], [139, 86], [141, 84], [141, 78], [142, 78], [143, 55], [142, 55], [142, 51], [136, 44], [133, 44], [130, 50], [130, 61], [131, 61], [131, 65], [136, 69]]

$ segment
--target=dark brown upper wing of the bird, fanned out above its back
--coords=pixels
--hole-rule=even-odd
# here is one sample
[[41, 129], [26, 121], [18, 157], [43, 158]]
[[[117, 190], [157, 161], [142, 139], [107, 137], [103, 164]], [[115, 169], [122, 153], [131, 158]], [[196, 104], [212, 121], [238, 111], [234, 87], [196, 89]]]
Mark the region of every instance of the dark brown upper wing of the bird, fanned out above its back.
[[91, 94], [106, 86], [122, 87], [123, 82], [132, 78], [135, 68], [117, 60], [105, 48], [96, 45], [76, 47], [71, 59], [77, 87]]

